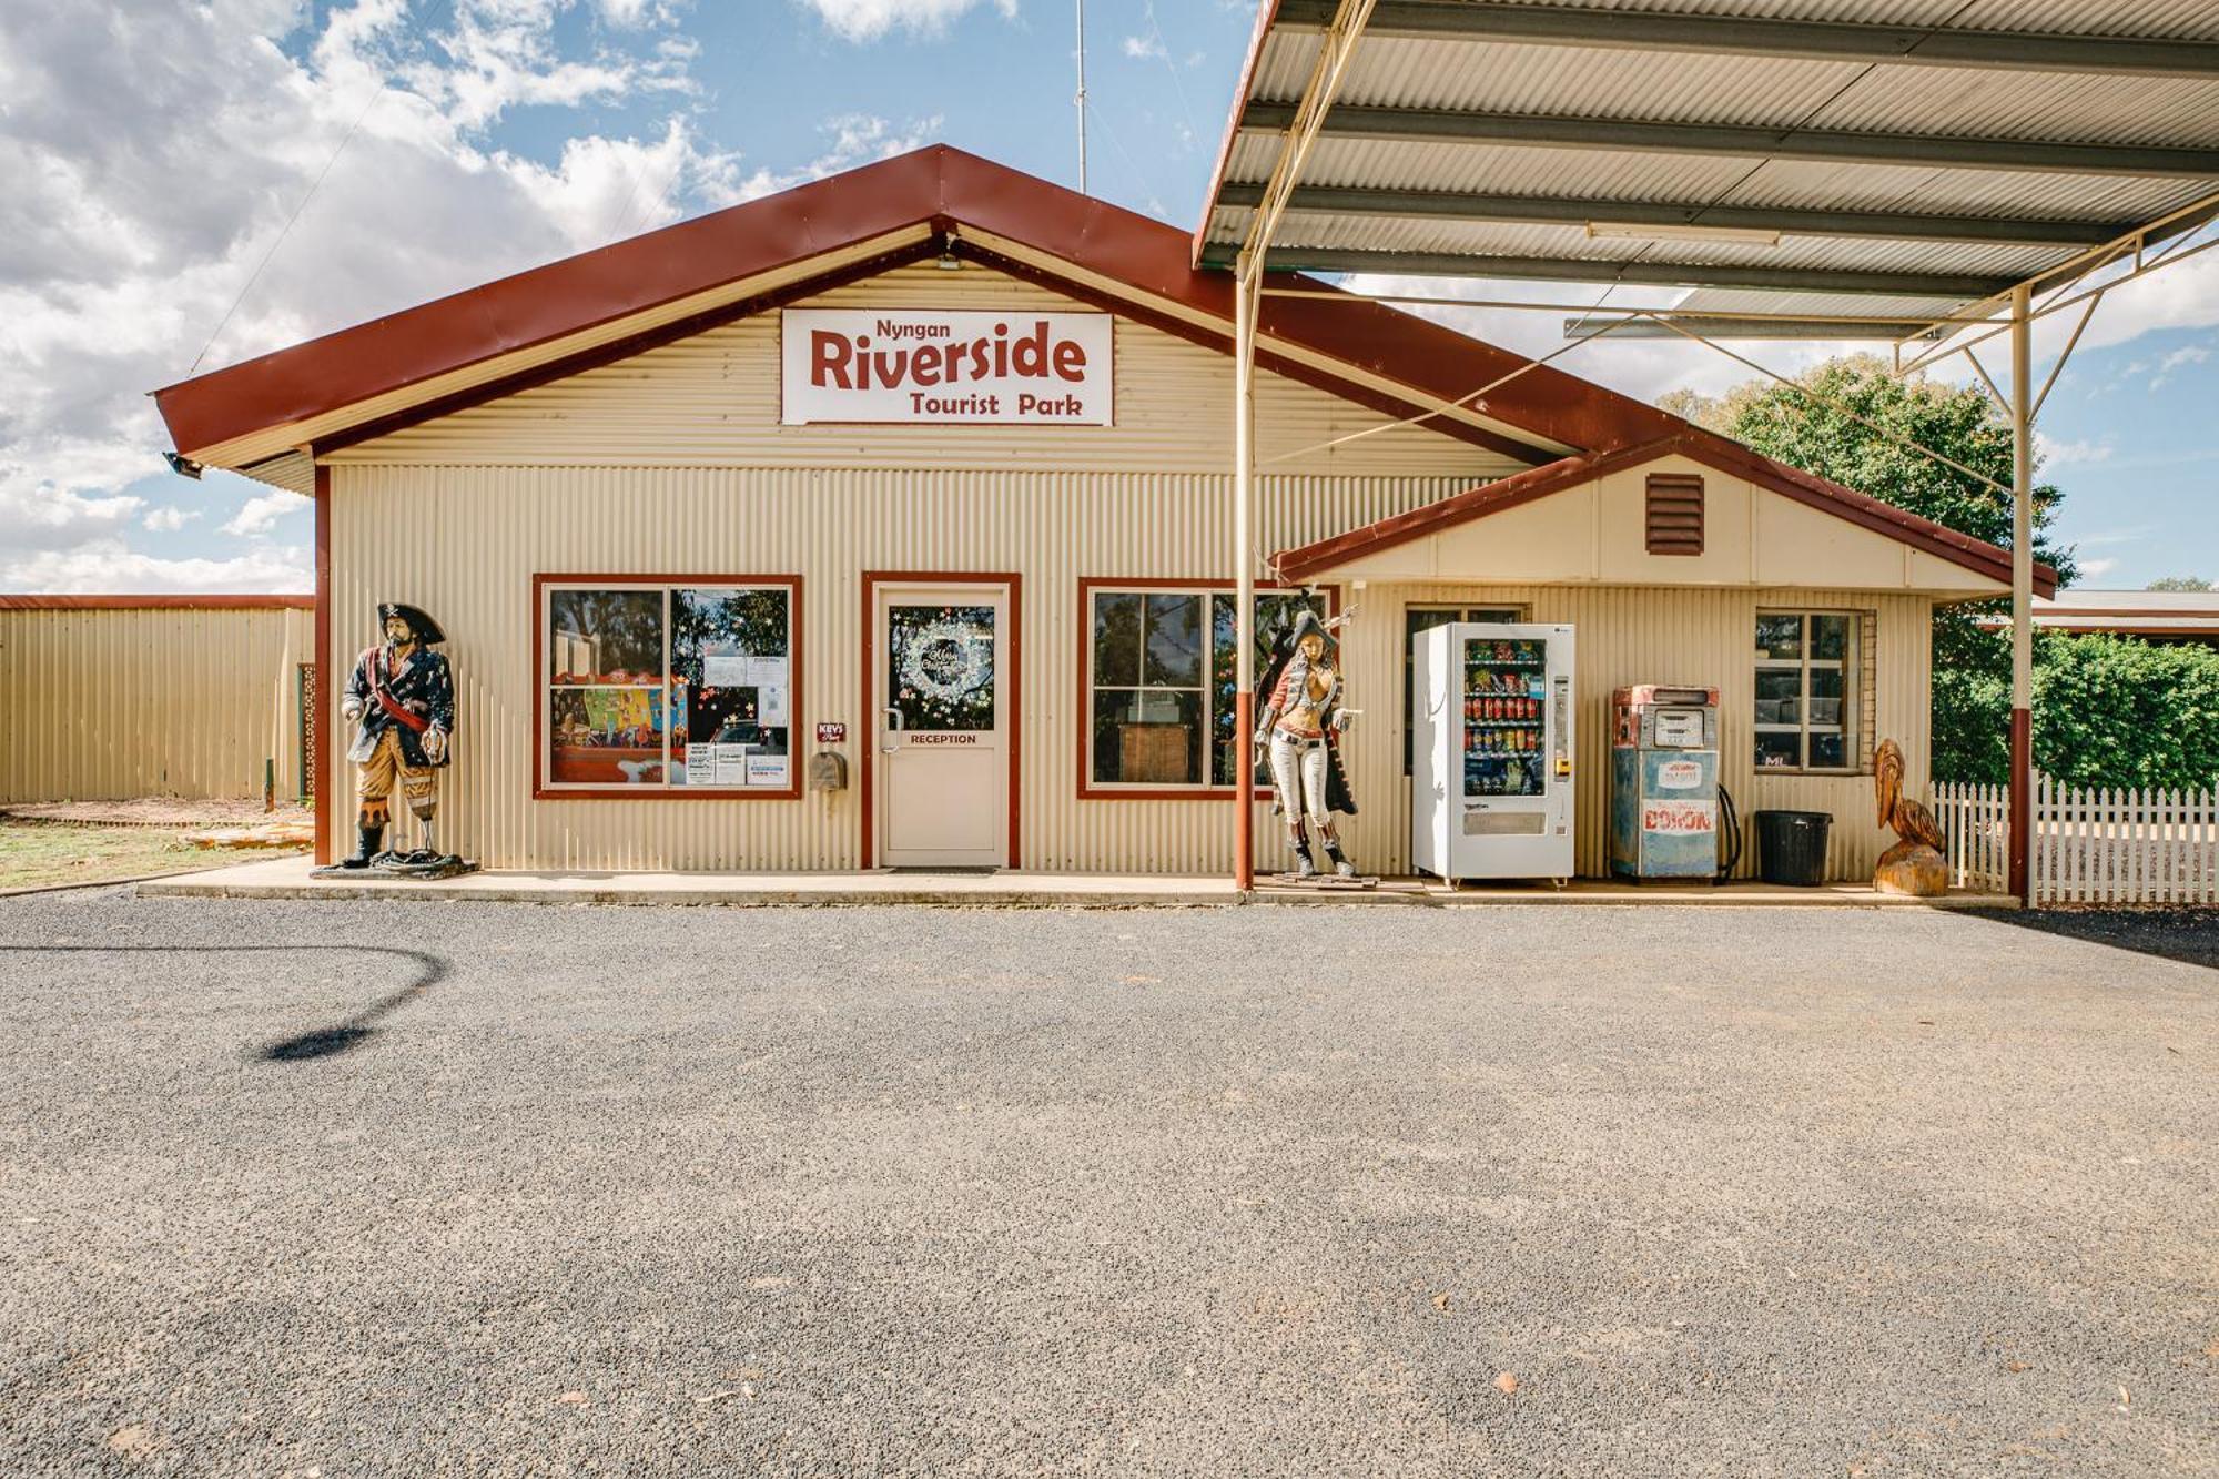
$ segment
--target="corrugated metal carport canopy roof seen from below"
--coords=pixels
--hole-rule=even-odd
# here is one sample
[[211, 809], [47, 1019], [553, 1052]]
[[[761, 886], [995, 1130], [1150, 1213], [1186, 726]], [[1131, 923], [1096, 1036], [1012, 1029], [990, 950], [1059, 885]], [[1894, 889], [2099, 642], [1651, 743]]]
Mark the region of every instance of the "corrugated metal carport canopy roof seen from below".
[[[1336, 9], [1267, 2], [1198, 262]], [[1378, 0], [1267, 264], [1811, 291], [1895, 335], [2215, 213], [2212, 0]]]

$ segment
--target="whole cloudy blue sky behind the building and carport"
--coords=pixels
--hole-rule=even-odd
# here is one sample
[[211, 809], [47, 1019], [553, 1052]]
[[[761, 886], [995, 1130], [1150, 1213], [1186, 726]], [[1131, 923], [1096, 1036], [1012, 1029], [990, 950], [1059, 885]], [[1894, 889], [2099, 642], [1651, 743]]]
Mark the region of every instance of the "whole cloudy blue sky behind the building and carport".
[[[142, 393], [202, 346], [224, 364], [925, 142], [1076, 184], [1072, 0], [47, 9], [0, 20], [0, 162], [31, 182], [0, 200], [0, 588], [306, 588], [300, 500], [160, 471]], [[1090, 0], [1096, 195], [1194, 224], [1252, 22]], [[2084, 584], [2219, 577], [2215, 258], [2108, 300], [2050, 398]], [[1558, 346], [1558, 315], [1447, 318]], [[1642, 398], [1746, 378], [1684, 344], [1560, 364]]]

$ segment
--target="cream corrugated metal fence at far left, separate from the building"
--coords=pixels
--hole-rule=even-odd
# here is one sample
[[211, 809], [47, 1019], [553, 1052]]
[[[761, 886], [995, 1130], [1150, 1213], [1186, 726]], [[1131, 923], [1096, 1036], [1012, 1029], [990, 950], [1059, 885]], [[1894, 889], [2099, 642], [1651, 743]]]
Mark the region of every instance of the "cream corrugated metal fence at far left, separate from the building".
[[0, 802], [300, 791], [302, 608], [0, 608]]

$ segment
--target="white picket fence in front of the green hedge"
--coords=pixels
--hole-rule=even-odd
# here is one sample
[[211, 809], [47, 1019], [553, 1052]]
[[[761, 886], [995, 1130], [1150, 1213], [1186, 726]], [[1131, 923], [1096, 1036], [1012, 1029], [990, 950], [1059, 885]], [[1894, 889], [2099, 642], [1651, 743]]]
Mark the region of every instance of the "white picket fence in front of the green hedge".
[[[2010, 886], [2010, 791], [1933, 788], [1953, 888]], [[2219, 904], [2219, 795], [2035, 777], [2035, 904]]]

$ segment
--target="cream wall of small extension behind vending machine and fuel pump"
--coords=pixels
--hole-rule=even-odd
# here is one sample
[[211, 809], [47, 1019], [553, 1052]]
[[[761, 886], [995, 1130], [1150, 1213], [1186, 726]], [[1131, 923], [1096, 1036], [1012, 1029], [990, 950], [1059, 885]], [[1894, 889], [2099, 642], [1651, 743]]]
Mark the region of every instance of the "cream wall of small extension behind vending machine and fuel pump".
[[[1402, 613], [1407, 606], [1524, 606], [1533, 622], [1578, 628], [1575, 746], [1575, 866], [1582, 875], [1609, 871], [1611, 804], [1611, 693], [1627, 684], [1704, 684], [1720, 693], [1720, 779], [1746, 824], [1757, 808], [1828, 811], [1828, 877], [1868, 877], [1893, 842], [1873, 822], [1868, 775], [1757, 775], [1755, 735], [1755, 620], [1760, 608], [1866, 611], [1875, 615], [1864, 653], [1868, 728], [1857, 746], [1871, 753], [1882, 737], [1904, 746], [1906, 791], [1924, 795], [1928, 775], [1928, 631], [1924, 595], [1817, 588], [1658, 588], [1658, 586], [1491, 586], [1491, 584], [1374, 584], [1349, 593], [1358, 620], [1347, 640], [1349, 706], [1365, 717], [1349, 744], [1351, 784], [1365, 813], [1351, 839], [1365, 864], [1400, 873], [1409, 866], [1409, 782], [1402, 777]], [[1755, 871], [1755, 846], [1742, 873]]]

